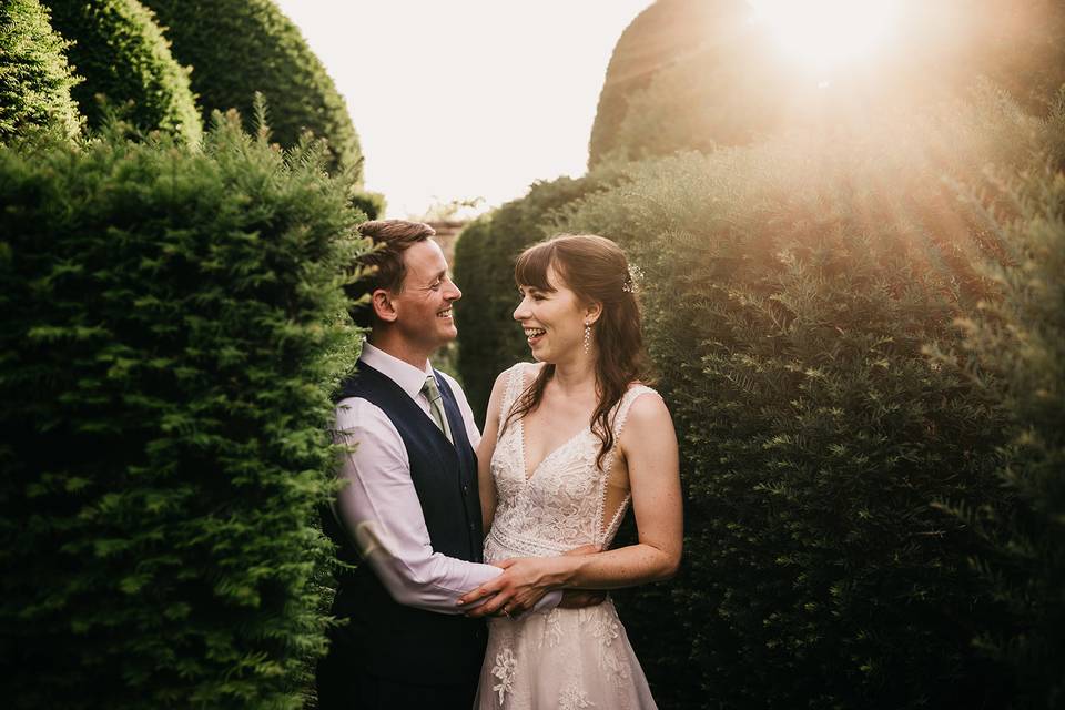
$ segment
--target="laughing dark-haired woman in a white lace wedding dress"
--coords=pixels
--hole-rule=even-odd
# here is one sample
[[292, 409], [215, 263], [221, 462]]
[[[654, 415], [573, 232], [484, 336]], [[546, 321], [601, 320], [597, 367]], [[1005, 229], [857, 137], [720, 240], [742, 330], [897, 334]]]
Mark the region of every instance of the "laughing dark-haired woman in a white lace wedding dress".
[[[682, 521], [677, 438], [640, 383], [640, 315], [625, 254], [562, 235], [515, 267], [536, 364], [499, 375], [477, 453], [485, 561], [504, 574], [459, 599], [487, 598], [480, 708], [655, 708], [609, 597], [530, 611], [552, 589], [612, 589], [671, 577]], [[608, 549], [631, 504], [639, 542]], [[566, 552], [591, 551], [586, 555]]]

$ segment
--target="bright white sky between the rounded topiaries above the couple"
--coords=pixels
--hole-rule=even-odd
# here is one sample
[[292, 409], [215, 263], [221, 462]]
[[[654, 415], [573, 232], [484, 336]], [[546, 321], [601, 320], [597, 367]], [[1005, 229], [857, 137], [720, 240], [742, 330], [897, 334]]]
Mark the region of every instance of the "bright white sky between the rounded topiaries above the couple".
[[347, 100], [388, 216], [580, 175], [610, 53], [651, 0], [277, 0]]

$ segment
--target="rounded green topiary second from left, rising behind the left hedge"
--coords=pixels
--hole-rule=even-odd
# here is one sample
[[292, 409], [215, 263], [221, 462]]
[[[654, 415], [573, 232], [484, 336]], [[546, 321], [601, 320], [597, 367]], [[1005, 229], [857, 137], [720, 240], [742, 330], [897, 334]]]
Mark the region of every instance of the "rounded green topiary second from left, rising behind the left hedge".
[[160, 129], [195, 143], [203, 132], [189, 71], [136, 0], [44, 0], [52, 27], [71, 42], [68, 58], [84, 81], [71, 89], [92, 129], [103, 108], [130, 104], [123, 116], [141, 130]]

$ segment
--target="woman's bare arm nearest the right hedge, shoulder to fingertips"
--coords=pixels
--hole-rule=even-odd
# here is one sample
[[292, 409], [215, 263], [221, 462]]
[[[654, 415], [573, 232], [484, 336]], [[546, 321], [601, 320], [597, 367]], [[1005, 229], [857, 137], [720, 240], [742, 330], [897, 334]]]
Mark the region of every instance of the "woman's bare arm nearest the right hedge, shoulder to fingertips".
[[676, 574], [683, 545], [677, 435], [660, 398], [632, 403], [619, 446], [629, 468], [639, 541], [595, 555], [505, 560], [503, 575], [459, 599], [466, 604], [496, 595], [470, 616], [520, 608], [527, 596], [544, 589], [615, 589]]

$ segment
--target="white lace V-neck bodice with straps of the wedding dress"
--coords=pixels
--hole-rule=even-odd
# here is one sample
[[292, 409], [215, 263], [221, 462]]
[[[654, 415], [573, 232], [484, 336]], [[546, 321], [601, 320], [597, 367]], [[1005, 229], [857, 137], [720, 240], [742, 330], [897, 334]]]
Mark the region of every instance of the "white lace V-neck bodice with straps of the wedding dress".
[[[500, 429], [537, 367], [518, 363], [508, 371]], [[485, 541], [485, 561], [550, 557], [582, 545], [596, 545], [600, 549], [610, 545], [630, 499], [626, 494], [620, 505], [607, 510], [617, 442], [632, 403], [647, 393], [657, 394], [643, 385], [630, 387], [615, 409], [615, 447], [607, 453], [601, 469], [596, 466], [599, 437], [586, 426], [548, 454], [527, 478], [524, 424], [520, 419], [510, 423], [496, 442], [491, 457], [497, 504]]]

